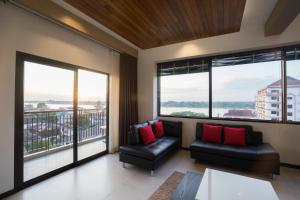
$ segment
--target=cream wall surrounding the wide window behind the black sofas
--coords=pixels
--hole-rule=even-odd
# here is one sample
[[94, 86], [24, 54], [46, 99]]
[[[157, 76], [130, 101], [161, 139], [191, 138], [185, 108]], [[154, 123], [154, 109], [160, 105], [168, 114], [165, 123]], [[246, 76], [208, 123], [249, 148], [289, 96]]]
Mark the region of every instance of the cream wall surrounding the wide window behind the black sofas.
[[[265, 9], [262, 9], [259, 5], [260, 2], [269, 5], [265, 5]], [[139, 121], [157, 117], [157, 62], [300, 43], [300, 16], [294, 20], [283, 34], [264, 37], [263, 22], [272, 10], [270, 5], [275, 3], [270, 0], [247, 1], [240, 32], [140, 50], [138, 57]], [[266, 12], [266, 9], [268, 9], [268, 12]], [[257, 16], [260, 17], [257, 19], [260, 20], [259, 23], [253, 19]], [[183, 121], [183, 146], [185, 147], [188, 147], [194, 140], [196, 122], [204, 121], [175, 118], [171, 120]], [[264, 141], [271, 143], [279, 151], [281, 162], [300, 165], [299, 125], [247, 124], [252, 124], [255, 130], [264, 132]]]

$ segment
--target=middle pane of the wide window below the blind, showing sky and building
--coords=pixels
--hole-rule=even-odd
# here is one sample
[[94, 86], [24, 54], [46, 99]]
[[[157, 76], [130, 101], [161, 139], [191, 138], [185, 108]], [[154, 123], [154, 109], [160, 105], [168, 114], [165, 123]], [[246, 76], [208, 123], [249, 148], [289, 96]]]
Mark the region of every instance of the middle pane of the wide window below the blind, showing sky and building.
[[212, 68], [212, 116], [281, 119], [281, 61]]

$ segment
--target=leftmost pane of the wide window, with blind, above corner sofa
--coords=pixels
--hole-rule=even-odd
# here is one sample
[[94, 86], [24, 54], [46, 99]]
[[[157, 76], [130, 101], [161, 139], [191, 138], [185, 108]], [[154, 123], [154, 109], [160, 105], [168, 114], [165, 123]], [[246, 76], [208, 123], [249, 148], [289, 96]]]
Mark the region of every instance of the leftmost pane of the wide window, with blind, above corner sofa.
[[160, 115], [209, 117], [208, 63], [187, 61], [160, 67]]

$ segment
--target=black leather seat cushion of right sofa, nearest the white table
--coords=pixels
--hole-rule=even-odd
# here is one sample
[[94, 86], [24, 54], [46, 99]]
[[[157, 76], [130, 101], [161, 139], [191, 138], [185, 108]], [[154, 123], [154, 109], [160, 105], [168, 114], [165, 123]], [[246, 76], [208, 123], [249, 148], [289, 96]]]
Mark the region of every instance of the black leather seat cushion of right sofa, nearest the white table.
[[259, 146], [231, 146], [225, 144], [205, 143], [200, 140], [194, 141], [190, 146], [191, 151], [208, 154], [217, 154], [245, 160], [273, 160], [279, 159], [279, 154], [269, 144]]

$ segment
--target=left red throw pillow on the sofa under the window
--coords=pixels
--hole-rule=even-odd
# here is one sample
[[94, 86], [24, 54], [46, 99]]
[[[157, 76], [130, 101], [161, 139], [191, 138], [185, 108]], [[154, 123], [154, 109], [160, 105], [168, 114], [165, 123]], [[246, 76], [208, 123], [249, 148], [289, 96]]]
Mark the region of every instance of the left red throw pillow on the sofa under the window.
[[203, 125], [202, 140], [204, 142], [221, 143], [222, 140], [222, 126]]

